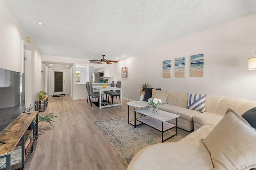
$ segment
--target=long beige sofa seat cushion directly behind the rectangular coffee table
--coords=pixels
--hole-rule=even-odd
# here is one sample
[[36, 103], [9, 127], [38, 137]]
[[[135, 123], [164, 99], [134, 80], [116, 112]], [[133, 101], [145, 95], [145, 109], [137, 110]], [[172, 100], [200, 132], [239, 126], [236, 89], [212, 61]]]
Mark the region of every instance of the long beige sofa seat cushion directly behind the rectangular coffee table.
[[158, 107], [159, 110], [167, 111], [170, 113], [174, 113], [176, 115], [180, 115], [180, 118], [186, 119], [188, 121], [192, 121], [193, 117], [197, 114], [200, 114], [200, 111], [186, 109], [185, 107], [174, 106], [170, 104], [162, 104]]

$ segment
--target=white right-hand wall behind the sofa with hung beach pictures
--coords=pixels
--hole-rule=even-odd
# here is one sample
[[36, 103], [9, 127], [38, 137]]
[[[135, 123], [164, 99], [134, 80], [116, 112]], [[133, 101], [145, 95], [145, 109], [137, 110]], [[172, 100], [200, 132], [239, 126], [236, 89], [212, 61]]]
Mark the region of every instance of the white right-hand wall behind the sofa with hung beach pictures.
[[[256, 70], [248, 70], [248, 58], [256, 56], [255, 18], [256, 12], [118, 61], [115, 81], [122, 81], [123, 97], [138, 100], [140, 84], [148, 83], [171, 92], [256, 100]], [[204, 77], [190, 77], [190, 56], [202, 53]], [[186, 57], [185, 78], [174, 77], [179, 57]], [[169, 59], [172, 78], [162, 78], [163, 61]], [[125, 66], [128, 78], [121, 78]]]

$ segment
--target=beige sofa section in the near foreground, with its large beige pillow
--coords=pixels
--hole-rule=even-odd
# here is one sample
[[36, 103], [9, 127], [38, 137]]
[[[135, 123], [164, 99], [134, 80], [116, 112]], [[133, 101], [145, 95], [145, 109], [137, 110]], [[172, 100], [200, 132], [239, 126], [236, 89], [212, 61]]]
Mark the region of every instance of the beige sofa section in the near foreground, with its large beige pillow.
[[178, 142], [140, 150], [127, 170], [254, 170], [256, 129], [228, 108], [214, 127], [203, 125]]

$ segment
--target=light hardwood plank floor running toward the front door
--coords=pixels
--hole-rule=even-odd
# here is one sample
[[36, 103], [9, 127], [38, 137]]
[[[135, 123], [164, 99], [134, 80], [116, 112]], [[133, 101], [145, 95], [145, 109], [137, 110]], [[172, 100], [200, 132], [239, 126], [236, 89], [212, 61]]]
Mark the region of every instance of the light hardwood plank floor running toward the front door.
[[[126, 163], [93, 122], [128, 114], [127, 102], [123, 99], [123, 106], [99, 109], [94, 104], [90, 107], [86, 99], [49, 96], [48, 108], [39, 114], [53, 112], [58, 117], [53, 127], [38, 123], [38, 140], [25, 161], [25, 170], [125, 170]], [[178, 135], [188, 134], [178, 129]]]

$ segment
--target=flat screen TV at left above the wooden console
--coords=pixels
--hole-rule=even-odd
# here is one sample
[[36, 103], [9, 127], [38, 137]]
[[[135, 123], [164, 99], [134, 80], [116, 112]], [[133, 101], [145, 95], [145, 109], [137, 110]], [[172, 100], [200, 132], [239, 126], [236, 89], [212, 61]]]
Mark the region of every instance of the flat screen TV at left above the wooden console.
[[25, 74], [0, 68], [0, 131], [25, 111]]

